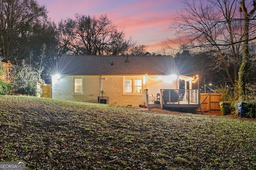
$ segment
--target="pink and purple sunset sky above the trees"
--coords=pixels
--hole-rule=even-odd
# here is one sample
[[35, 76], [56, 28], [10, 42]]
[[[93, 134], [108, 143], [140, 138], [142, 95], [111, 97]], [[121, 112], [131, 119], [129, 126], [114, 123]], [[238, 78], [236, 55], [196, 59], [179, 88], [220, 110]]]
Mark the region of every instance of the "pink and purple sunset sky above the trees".
[[152, 53], [162, 48], [161, 42], [173, 36], [168, 29], [181, 4], [176, 0], [37, 0], [46, 5], [48, 17], [56, 23], [74, 18], [75, 14], [107, 15], [127, 37], [146, 45]]

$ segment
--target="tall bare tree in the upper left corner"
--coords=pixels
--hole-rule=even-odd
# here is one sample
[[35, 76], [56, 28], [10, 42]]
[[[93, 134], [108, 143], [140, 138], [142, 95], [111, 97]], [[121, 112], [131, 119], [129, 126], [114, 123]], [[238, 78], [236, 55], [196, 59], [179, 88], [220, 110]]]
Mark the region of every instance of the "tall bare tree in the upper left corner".
[[23, 57], [33, 25], [46, 19], [46, 13], [35, 0], [0, 0], [0, 47], [6, 61]]

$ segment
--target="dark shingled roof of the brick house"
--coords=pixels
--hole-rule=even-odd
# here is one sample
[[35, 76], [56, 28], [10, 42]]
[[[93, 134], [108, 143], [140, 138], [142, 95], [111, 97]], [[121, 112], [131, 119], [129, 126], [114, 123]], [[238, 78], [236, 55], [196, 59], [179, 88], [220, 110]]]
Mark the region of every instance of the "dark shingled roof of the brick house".
[[62, 55], [57, 66], [65, 75], [179, 74], [172, 56]]

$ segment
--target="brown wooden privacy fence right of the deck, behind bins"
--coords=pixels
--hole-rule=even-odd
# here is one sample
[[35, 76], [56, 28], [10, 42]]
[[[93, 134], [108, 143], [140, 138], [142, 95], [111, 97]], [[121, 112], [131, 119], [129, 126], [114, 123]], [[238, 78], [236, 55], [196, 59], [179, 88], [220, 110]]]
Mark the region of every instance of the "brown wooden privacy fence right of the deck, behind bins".
[[[220, 93], [200, 93], [200, 102], [204, 113], [220, 114], [220, 102], [223, 101]], [[201, 113], [200, 108], [197, 109]]]

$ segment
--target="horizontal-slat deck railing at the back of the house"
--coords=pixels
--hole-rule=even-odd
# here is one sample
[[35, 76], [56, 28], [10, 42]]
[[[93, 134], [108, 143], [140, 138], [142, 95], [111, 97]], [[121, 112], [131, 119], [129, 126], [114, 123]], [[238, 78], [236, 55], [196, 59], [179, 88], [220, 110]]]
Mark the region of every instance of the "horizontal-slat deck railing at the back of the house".
[[163, 104], [199, 104], [199, 90], [161, 89]]

